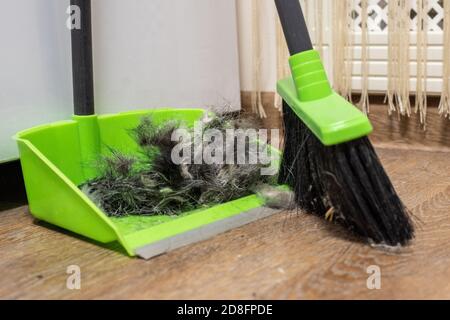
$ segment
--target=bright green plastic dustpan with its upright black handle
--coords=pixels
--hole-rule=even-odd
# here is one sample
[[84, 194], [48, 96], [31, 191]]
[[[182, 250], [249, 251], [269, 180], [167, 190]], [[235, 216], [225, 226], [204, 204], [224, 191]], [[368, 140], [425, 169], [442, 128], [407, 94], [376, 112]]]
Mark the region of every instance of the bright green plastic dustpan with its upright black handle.
[[30, 212], [101, 243], [118, 241], [131, 256], [151, 258], [171, 249], [207, 239], [276, 212], [264, 200], [248, 196], [176, 217], [107, 217], [77, 185], [97, 172], [86, 165], [109, 147], [137, 152], [129, 136], [140, 118], [151, 115], [156, 123], [182, 120], [192, 124], [200, 109], [159, 109], [97, 116], [94, 114], [90, 1], [72, 0], [81, 9], [81, 29], [72, 31], [74, 109], [72, 120], [39, 126], [15, 136]]

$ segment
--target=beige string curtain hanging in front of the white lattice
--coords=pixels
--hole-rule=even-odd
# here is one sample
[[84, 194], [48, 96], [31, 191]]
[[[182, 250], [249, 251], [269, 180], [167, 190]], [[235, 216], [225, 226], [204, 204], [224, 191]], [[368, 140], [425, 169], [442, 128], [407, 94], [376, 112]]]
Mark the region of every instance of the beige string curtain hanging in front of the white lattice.
[[[248, 0], [238, 0], [248, 1]], [[266, 116], [261, 101], [261, 46], [270, 45], [266, 34], [261, 32], [261, 21], [264, 13], [261, 12], [261, 5], [264, 1], [270, 1], [273, 6], [271, 18], [274, 19], [273, 45], [275, 49], [274, 68], [278, 79], [290, 74], [288, 66], [289, 53], [287, 50], [284, 35], [279, 23], [276, 10], [272, 0], [251, 0], [252, 1], [252, 52], [253, 52], [253, 85], [252, 110], [261, 117]], [[426, 128], [427, 120], [427, 61], [428, 61], [428, 11], [429, 0], [386, 0], [388, 3], [388, 79], [386, 90], [386, 102], [389, 114], [396, 113], [399, 117], [410, 116], [416, 112], [420, 116], [423, 127]], [[310, 32], [316, 49], [323, 53], [325, 39], [325, 1], [324, 0], [300, 0], [307, 17]], [[370, 30], [368, 27], [368, 15], [370, 5], [369, 0], [332, 0], [331, 24], [331, 59], [332, 72], [329, 75], [333, 79], [335, 90], [348, 100], [352, 100], [353, 86], [353, 55], [354, 55], [354, 20], [352, 15], [357, 5], [361, 6], [361, 98], [355, 102], [362, 111], [370, 112], [369, 100], [369, 49]], [[445, 6], [444, 18], [444, 56], [450, 56], [450, 0], [443, 1]], [[411, 8], [417, 7], [417, 32], [416, 39], [411, 36]], [[268, 3], [265, 4], [266, 6]], [[267, 17], [267, 14], [265, 15]], [[327, 34], [328, 35], [328, 34]], [[410, 40], [417, 43], [417, 84], [415, 88], [410, 86]], [[267, 42], [268, 41], [268, 42]], [[439, 110], [442, 116], [450, 119], [450, 59], [444, 59], [443, 87]], [[267, 67], [267, 66], [266, 66]], [[274, 88], [275, 89], [275, 88]], [[410, 96], [415, 95], [415, 104], [411, 104]], [[275, 107], [281, 110], [281, 100], [275, 98]]]

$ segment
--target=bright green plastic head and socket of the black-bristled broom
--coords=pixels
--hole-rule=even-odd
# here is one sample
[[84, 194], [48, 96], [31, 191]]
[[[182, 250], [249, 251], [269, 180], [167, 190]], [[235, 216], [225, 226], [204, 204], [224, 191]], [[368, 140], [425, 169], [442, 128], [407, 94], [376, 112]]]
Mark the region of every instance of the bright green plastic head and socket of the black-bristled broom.
[[369, 119], [333, 92], [316, 50], [296, 54], [289, 63], [292, 78], [278, 82], [278, 93], [324, 145], [340, 144], [372, 132]]

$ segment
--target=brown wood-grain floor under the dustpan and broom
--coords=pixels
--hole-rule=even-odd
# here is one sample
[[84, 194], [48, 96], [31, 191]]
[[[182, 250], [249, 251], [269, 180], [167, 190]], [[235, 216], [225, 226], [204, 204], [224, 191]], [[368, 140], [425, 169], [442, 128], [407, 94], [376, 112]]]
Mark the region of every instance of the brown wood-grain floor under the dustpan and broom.
[[[417, 239], [401, 252], [284, 212], [143, 261], [36, 223], [22, 207], [0, 214], [0, 298], [449, 299], [450, 154], [379, 154], [417, 223]], [[73, 264], [81, 290], [66, 288]], [[371, 265], [381, 268], [380, 290], [367, 289]]]

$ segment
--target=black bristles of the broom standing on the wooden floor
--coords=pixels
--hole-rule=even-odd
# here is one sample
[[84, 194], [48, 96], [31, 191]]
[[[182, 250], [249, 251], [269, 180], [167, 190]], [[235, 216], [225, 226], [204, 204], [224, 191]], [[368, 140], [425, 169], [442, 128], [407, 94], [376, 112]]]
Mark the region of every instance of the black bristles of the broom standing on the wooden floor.
[[369, 139], [326, 147], [285, 102], [283, 112], [289, 143], [279, 182], [295, 191], [297, 205], [375, 244], [407, 244], [412, 221]]

